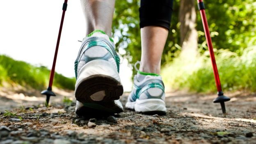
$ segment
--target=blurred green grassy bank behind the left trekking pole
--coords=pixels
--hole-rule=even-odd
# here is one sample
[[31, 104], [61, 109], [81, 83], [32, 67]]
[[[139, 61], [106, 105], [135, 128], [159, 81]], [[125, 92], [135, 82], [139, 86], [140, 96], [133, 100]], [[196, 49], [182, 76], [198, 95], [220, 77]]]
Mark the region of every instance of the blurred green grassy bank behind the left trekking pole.
[[[50, 70], [45, 66], [33, 66], [26, 62], [17, 61], [6, 55], [0, 55], [0, 84], [2, 82], [18, 83], [34, 89], [46, 89], [48, 86]], [[75, 78], [66, 78], [55, 73], [55, 87], [74, 89]]]

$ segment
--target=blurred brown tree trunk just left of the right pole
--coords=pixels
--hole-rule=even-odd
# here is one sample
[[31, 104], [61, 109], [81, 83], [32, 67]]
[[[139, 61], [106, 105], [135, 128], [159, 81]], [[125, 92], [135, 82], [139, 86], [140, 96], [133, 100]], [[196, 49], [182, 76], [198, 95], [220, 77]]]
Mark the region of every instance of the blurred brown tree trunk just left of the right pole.
[[179, 21], [181, 23], [182, 53], [189, 53], [190, 56], [196, 57], [198, 36], [195, 28], [196, 10], [194, 0], [181, 0]]

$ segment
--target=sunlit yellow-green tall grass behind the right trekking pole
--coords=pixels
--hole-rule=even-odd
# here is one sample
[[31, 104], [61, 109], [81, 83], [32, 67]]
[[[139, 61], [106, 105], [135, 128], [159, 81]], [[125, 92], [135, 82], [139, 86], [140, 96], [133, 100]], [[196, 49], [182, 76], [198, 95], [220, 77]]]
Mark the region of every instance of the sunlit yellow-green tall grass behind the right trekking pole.
[[[188, 58], [187, 58], [188, 57]], [[186, 89], [195, 92], [216, 92], [209, 51], [194, 59], [178, 57], [164, 66], [162, 77], [167, 89]], [[256, 91], [256, 46], [241, 54], [229, 50], [215, 50], [215, 59], [224, 90]]]

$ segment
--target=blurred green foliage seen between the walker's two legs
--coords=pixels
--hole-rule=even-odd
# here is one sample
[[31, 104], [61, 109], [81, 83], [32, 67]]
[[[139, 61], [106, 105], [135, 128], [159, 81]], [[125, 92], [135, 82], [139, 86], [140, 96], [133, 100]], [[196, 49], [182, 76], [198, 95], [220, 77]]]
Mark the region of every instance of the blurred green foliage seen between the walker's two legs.
[[[121, 55], [131, 63], [140, 59], [139, 0], [116, 2], [112, 27], [117, 50], [125, 48]], [[120, 50], [119, 50], [120, 51]]]

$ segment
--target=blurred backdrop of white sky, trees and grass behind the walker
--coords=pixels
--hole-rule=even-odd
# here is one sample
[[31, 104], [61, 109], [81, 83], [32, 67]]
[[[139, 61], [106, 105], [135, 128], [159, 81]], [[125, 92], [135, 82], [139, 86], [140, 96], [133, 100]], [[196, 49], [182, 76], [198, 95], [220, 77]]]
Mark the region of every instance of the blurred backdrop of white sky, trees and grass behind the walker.
[[[7, 91], [46, 89], [64, 0], [0, 1], [0, 96]], [[256, 91], [256, 1], [204, 0], [224, 91]], [[113, 39], [121, 55], [125, 91], [140, 60], [139, 0], [116, 0]], [[56, 64], [54, 88], [73, 90], [74, 61], [85, 37], [80, 1], [70, 0]], [[174, 0], [162, 55], [166, 91], [216, 92], [196, 0]], [[19, 92], [18, 92], [19, 93]], [[38, 92], [27, 96], [40, 95]], [[26, 95], [26, 94], [25, 94]], [[2, 99], [2, 98], [1, 98]]]

